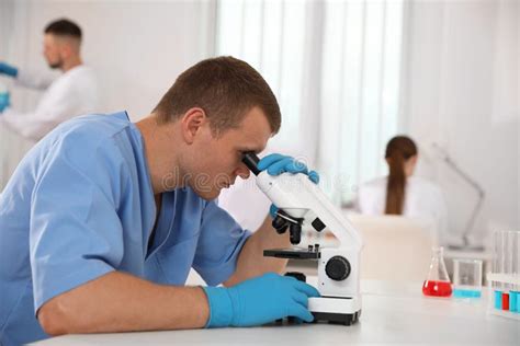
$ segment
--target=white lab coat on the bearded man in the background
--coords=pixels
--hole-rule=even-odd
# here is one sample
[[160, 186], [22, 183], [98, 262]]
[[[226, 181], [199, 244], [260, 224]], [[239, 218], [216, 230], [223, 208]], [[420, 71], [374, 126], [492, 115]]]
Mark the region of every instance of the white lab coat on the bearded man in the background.
[[33, 112], [9, 107], [0, 114], [0, 123], [25, 138], [39, 140], [60, 123], [99, 111], [98, 82], [88, 66], [77, 66], [55, 80], [20, 71], [15, 80], [19, 85], [45, 90]]

